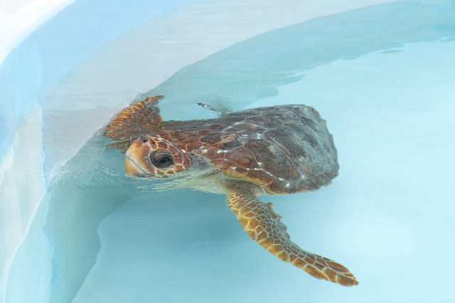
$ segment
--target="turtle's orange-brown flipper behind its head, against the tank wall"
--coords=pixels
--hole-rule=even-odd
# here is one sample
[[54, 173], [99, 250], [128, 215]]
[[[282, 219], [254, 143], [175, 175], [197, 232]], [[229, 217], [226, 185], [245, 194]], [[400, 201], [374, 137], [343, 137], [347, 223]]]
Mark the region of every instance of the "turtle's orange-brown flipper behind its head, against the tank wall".
[[163, 121], [157, 106], [163, 98], [147, 97], [123, 109], [105, 128], [105, 136], [117, 141], [109, 146], [119, 148], [124, 153], [139, 136], [154, 133], [154, 128]]

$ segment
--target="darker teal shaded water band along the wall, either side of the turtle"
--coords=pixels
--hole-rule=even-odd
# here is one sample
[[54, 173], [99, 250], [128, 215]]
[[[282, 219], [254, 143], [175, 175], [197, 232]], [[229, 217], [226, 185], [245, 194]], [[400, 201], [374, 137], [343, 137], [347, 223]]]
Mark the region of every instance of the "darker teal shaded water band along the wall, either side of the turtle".
[[[453, 1], [400, 1], [315, 18], [232, 45], [139, 97], [166, 95], [162, 106], [173, 110], [174, 119], [197, 113], [197, 102], [240, 109], [335, 60], [400, 51], [404, 43], [453, 39], [454, 11]], [[186, 111], [184, 106], [192, 107]], [[75, 297], [97, 259], [100, 222], [140, 193], [137, 187], [146, 186], [124, 177], [124, 156], [105, 144], [97, 134], [50, 185], [45, 232], [53, 248], [52, 302]], [[148, 195], [153, 200], [154, 193]], [[183, 201], [185, 196], [173, 197]]]

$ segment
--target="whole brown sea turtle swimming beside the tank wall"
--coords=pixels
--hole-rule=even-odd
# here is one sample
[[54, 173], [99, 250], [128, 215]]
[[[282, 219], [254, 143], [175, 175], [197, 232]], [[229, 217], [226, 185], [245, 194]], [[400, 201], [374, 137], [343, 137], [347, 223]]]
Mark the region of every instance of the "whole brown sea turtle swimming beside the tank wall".
[[218, 119], [162, 121], [162, 98], [125, 108], [106, 127], [105, 135], [115, 141], [110, 146], [126, 151], [127, 175], [180, 177], [184, 182], [178, 184], [225, 193], [248, 236], [279, 259], [318, 279], [358, 284], [348, 268], [292, 242], [273, 205], [259, 199], [313, 191], [338, 175], [333, 138], [316, 109], [271, 106]]

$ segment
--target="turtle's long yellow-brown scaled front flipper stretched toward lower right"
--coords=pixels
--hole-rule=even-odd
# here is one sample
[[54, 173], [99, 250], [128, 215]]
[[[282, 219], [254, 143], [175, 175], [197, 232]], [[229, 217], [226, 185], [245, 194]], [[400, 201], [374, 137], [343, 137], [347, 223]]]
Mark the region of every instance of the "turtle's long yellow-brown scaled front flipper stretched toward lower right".
[[313, 277], [345, 286], [358, 285], [348, 268], [320, 255], [302, 250], [289, 238], [281, 216], [272, 204], [259, 200], [256, 194], [228, 192], [227, 203], [248, 236], [279, 259], [308, 272]]

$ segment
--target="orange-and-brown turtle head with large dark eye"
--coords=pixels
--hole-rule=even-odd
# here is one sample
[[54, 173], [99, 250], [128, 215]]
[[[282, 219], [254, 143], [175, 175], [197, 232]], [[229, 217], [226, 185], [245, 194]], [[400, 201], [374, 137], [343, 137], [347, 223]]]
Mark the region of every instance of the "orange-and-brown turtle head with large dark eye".
[[139, 137], [126, 155], [125, 172], [131, 177], [165, 177], [191, 165], [183, 150], [157, 136]]

